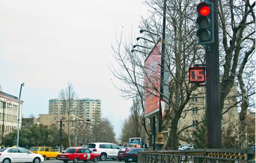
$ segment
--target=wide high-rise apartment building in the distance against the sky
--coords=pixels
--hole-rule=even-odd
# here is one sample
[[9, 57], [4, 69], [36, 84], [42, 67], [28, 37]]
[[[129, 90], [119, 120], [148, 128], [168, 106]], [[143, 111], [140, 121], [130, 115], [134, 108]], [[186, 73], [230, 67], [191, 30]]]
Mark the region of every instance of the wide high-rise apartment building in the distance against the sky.
[[100, 99], [49, 99], [49, 114], [69, 114], [79, 118], [100, 121], [101, 119], [101, 100]]

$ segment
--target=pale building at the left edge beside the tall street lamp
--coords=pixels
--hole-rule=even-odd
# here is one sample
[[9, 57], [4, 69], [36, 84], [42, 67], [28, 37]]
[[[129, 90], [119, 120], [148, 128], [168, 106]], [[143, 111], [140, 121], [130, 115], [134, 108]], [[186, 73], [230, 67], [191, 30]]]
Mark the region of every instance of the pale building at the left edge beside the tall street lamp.
[[[21, 126], [21, 117], [22, 117], [22, 104], [23, 104], [23, 101], [20, 101], [20, 126]], [[18, 106], [19, 106], [19, 99], [17, 97], [0, 91], [0, 123], [1, 123], [0, 137], [2, 137], [2, 134], [6, 135], [7, 133], [12, 132], [12, 130], [17, 129]], [[4, 117], [4, 121], [3, 121], [3, 117]], [[3, 130], [3, 126], [4, 126], [4, 130]]]

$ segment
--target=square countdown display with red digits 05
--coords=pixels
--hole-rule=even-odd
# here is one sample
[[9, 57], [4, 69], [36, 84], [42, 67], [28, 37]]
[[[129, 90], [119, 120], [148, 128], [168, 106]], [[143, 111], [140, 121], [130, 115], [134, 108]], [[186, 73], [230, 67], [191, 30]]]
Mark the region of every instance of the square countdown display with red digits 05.
[[190, 83], [204, 83], [205, 82], [205, 67], [190, 67], [189, 68], [189, 82]]

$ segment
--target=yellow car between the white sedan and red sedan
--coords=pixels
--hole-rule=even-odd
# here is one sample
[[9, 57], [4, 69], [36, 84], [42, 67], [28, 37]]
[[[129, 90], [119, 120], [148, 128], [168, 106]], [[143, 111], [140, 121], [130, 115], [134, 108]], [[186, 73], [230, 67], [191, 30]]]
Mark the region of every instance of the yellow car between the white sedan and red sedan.
[[45, 160], [49, 160], [50, 158], [56, 158], [60, 152], [56, 152], [51, 147], [47, 146], [33, 146], [29, 149], [32, 153], [38, 153], [44, 157]]

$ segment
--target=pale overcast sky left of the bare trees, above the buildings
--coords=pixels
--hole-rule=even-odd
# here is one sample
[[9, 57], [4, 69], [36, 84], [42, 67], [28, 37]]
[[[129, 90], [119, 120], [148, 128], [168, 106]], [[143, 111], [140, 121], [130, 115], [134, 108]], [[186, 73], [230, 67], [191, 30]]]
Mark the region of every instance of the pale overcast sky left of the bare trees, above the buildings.
[[[0, 85], [19, 96], [22, 115], [48, 114], [50, 98], [57, 98], [68, 82], [79, 98], [100, 98], [102, 117], [111, 120], [116, 136], [131, 100], [113, 87], [108, 63], [111, 44], [131, 29], [139, 31], [146, 15], [143, 0], [1, 0]], [[121, 82], [117, 82], [119, 85]]]

